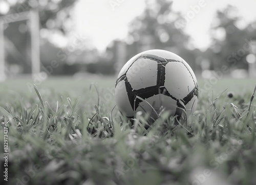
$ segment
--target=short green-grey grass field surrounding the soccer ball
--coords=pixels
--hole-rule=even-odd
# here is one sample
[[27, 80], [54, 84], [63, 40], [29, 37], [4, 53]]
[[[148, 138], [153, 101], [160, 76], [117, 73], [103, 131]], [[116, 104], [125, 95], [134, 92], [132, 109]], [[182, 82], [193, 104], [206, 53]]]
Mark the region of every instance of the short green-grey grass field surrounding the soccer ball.
[[187, 122], [163, 114], [148, 130], [113, 109], [113, 78], [95, 81], [0, 84], [9, 184], [256, 184], [255, 80], [219, 81]]

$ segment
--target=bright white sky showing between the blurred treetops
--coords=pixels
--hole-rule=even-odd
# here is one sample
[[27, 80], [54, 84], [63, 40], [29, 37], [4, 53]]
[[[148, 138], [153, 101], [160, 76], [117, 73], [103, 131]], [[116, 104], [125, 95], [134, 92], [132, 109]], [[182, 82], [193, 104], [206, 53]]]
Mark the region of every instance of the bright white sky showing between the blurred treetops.
[[[242, 16], [239, 28], [256, 20], [254, 0], [174, 0], [173, 10], [188, 19], [184, 32], [191, 36], [195, 47], [204, 50], [211, 42], [209, 28], [216, 11], [228, 4], [236, 6], [237, 14]], [[129, 22], [140, 15], [144, 7], [145, 0], [79, 0], [74, 9], [74, 31], [86, 35], [99, 50], [104, 50], [113, 39], [125, 38]]]

